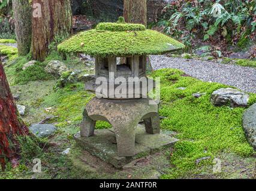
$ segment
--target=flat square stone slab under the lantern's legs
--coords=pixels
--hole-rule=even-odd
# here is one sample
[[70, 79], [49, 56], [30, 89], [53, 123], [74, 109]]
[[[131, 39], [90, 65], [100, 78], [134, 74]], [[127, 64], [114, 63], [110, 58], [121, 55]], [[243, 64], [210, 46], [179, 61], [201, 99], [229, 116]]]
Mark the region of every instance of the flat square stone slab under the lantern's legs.
[[77, 133], [74, 138], [91, 155], [97, 156], [116, 168], [122, 168], [135, 159], [173, 147], [178, 141], [167, 134], [147, 134], [145, 128], [138, 125], [135, 135], [135, 156], [119, 157], [116, 137], [112, 129], [96, 130], [92, 137], [81, 137], [80, 133]]

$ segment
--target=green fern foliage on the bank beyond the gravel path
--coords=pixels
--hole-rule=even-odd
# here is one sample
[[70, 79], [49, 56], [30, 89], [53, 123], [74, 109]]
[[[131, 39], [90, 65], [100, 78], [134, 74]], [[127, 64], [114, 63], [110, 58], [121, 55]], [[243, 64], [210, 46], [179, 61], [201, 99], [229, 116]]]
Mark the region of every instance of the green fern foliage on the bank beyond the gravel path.
[[[174, 1], [164, 8], [158, 22], [164, 32], [176, 38], [198, 35], [207, 41], [216, 35], [240, 47], [248, 45], [256, 28], [256, 1]], [[186, 45], [189, 43], [187, 42]]]

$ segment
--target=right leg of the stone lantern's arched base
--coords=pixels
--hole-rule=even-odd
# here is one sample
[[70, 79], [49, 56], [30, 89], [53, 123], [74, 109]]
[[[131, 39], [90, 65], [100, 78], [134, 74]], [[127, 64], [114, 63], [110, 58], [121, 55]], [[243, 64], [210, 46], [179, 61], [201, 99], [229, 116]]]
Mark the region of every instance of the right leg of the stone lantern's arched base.
[[143, 120], [146, 133], [148, 134], [159, 134], [160, 133], [160, 119], [158, 113], [153, 113], [150, 118], [146, 118]]

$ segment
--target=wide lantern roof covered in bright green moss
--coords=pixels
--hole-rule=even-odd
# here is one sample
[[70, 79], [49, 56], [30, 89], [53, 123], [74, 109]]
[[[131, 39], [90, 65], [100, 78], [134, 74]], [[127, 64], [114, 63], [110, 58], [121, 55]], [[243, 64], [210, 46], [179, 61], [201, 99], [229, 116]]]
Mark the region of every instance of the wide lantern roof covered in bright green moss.
[[100, 23], [93, 30], [80, 32], [58, 45], [62, 53], [91, 56], [132, 56], [164, 54], [185, 46], [142, 24], [128, 24], [121, 17], [117, 23]]

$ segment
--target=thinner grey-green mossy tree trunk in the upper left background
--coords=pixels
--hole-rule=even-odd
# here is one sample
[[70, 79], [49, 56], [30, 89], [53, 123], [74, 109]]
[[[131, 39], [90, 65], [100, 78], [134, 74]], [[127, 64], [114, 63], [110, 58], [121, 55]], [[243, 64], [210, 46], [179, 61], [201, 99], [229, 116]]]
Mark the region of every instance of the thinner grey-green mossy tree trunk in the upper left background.
[[31, 47], [31, 5], [28, 0], [13, 0], [12, 4], [19, 56], [25, 56]]

